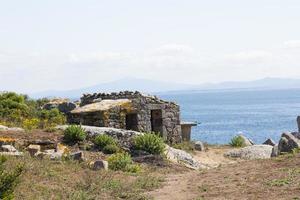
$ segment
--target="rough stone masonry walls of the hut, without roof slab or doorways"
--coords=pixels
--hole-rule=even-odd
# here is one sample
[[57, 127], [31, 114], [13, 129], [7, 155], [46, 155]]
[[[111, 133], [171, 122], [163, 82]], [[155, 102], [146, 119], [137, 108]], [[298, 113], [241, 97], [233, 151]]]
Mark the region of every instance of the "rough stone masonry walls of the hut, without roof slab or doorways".
[[139, 92], [95, 93], [84, 94], [81, 97], [81, 106], [95, 103], [104, 99], [131, 99], [131, 109], [115, 107], [108, 111], [74, 114], [70, 117], [73, 123], [83, 125], [126, 128], [126, 114], [137, 114], [137, 131], [151, 132], [151, 111], [161, 110], [161, 135], [168, 143], [177, 143], [182, 140], [180, 126], [180, 108], [173, 102], [167, 102], [156, 96], [147, 96]]

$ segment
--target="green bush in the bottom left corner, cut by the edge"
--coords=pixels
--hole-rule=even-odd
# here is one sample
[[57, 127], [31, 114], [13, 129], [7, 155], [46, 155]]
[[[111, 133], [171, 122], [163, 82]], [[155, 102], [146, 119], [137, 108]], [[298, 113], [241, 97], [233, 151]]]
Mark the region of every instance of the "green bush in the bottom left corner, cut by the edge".
[[4, 167], [4, 156], [0, 156], [0, 199], [14, 199], [14, 188], [18, 184], [18, 177], [23, 171], [23, 166], [18, 165], [15, 169], [7, 171]]

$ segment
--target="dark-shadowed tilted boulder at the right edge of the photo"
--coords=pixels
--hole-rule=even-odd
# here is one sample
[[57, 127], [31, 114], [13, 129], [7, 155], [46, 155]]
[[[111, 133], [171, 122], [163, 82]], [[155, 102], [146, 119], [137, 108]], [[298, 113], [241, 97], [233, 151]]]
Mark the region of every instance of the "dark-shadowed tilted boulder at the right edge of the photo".
[[292, 133], [283, 133], [279, 140], [278, 153], [289, 153], [295, 148], [300, 148], [300, 140]]

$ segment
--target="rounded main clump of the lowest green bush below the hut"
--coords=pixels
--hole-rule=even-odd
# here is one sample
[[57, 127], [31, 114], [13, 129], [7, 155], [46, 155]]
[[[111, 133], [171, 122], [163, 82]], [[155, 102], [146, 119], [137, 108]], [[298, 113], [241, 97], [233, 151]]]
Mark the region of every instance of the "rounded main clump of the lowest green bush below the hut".
[[114, 171], [126, 171], [132, 165], [131, 156], [128, 153], [116, 153], [108, 158], [108, 167]]

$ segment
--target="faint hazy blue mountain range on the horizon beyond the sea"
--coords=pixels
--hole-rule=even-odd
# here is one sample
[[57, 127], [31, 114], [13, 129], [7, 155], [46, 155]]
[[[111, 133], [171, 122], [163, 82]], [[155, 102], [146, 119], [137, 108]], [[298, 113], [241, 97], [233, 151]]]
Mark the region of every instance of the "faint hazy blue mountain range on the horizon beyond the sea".
[[41, 97], [66, 97], [79, 98], [83, 93], [95, 92], [117, 92], [122, 90], [138, 90], [144, 93], [176, 93], [176, 92], [198, 92], [214, 90], [236, 90], [236, 89], [292, 89], [300, 88], [300, 79], [265, 78], [245, 82], [222, 82], [206, 83], [201, 85], [189, 85], [182, 83], [169, 83], [163, 81], [152, 81], [146, 79], [126, 78], [99, 85], [75, 90], [48, 90], [30, 94], [33, 98]]

